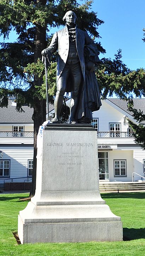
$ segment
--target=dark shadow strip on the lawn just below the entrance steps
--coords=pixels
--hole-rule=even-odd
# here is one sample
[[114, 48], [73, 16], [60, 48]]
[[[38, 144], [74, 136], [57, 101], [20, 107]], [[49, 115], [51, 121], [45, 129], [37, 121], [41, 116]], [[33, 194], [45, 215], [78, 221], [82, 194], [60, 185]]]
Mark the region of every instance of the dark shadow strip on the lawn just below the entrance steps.
[[103, 199], [105, 198], [136, 198], [145, 199], [145, 192], [130, 192], [130, 193], [101, 193]]

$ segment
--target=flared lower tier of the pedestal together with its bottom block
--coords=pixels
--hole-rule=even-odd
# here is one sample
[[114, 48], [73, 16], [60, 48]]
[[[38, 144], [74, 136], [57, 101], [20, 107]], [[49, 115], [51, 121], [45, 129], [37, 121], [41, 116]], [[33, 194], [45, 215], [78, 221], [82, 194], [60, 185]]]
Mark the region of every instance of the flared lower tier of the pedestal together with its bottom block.
[[122, 241], [122, 222], [108, 205], [36, 206], [29, 202], [18, 216], [18, 235], [22, 244]]

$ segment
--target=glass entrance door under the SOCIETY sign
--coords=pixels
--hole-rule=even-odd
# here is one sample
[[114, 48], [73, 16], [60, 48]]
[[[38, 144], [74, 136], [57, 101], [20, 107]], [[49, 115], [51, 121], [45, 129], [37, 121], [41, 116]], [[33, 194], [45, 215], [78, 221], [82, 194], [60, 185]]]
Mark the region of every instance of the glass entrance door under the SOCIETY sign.
[[108, 180], [108, 152], [98, 152], [99, 161], [99, 179]]

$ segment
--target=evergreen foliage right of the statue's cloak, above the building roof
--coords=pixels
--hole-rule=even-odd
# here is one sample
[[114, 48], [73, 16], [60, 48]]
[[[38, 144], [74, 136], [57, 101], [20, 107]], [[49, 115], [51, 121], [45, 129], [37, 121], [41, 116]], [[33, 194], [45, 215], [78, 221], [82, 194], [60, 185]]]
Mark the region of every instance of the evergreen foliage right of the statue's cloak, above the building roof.
[[121, 49], [119, 49], [113, 60], [103, 58], [96, 70], [100, 93], [104, 99], [115, 94], [120, 99], [129, 100], [134, 94], [136, 97], [144, 94], [145, 69], [132, 71], [121, 58]]

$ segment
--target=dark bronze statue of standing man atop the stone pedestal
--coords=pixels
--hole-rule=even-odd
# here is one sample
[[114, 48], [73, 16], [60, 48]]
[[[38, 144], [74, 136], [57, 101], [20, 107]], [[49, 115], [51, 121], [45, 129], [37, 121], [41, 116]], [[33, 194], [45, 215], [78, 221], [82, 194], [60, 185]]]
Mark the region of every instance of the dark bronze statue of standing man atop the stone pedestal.
[[99, 60], [99, 51], [89, 35], [77, 28], [76, 15], [68, 11], [63, 17], [65, 28], [53, 35], [51, 44], [42, 55], [51, 62], [57, 56], [57, 93], [54, 100], [55, 117], [51, 123], [59, 122], [65, 92], [71, 92], [70, 123], [90, 123], [92, 111], [102, 105], [94, 69]]

